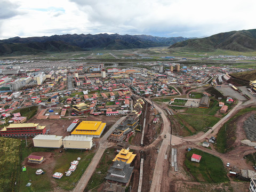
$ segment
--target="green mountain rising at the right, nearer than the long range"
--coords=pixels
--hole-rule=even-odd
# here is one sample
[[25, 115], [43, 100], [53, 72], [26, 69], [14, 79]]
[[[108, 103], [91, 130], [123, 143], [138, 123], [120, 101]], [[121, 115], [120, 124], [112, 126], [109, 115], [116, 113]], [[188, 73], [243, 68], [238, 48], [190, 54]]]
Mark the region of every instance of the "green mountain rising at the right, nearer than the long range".
[[188, 39], [174, 43], [169, 49], [183, 47], [193, 51], [214, 51], [217, 49], [231, 51], [255, 51], [256, 50], [256, 29], [230, 31], [205, 38]]

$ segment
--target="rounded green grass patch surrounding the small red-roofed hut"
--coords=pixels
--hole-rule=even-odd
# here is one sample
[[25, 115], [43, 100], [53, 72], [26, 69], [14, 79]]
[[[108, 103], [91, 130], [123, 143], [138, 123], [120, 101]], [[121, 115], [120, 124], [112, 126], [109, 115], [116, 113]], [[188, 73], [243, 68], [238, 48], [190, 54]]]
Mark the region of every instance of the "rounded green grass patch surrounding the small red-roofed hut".
[[[193, 154], [201, 155], [201, 161], [191, 162]], [[186, 154], [185, 166], [193, 178], [199, 182], [228, 182], [227, 172], [219, 157], [205, 153], [198, 149], [192, 149]]]

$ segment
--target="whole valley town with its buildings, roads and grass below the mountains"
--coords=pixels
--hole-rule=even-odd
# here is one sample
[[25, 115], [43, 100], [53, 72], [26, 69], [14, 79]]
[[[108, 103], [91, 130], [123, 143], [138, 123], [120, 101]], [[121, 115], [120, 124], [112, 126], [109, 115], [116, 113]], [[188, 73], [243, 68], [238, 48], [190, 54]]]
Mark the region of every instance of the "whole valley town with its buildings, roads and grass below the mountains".
[[3, 191], [255, 189], [254, 57], [78, 55], [0, 61]]

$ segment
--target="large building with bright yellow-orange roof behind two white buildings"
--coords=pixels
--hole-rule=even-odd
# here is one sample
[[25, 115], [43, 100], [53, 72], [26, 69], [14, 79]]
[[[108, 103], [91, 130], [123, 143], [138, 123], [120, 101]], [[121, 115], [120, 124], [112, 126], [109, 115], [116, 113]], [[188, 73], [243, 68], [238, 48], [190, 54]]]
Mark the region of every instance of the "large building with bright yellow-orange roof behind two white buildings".
[[87, 137], [99, 138], [106, 127], [106, 123], [100, 121], [82, 121], [71, 135], [86, 135]]

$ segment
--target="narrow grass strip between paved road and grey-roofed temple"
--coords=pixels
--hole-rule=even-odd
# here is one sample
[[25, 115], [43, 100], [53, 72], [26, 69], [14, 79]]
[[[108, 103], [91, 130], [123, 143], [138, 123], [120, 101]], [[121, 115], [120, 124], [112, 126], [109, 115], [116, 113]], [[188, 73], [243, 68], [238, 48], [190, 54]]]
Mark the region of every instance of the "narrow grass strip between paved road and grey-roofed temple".
[[[88, 185], [85, 188], [85, 191], [97, 191], [97, 188], [105, 181], [105, 177], [108, 173], [108, 169], [110, 165], [113, 163], [113, 159], [115, 158], [115, 149], [108, 148], [105, 150], [102, 155], [97, 168], [95, 169], [91, 179], [88, 182]], [[98, 174], [98, 172], [101, 172]]]

